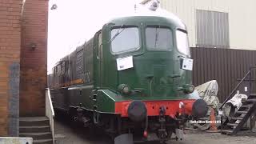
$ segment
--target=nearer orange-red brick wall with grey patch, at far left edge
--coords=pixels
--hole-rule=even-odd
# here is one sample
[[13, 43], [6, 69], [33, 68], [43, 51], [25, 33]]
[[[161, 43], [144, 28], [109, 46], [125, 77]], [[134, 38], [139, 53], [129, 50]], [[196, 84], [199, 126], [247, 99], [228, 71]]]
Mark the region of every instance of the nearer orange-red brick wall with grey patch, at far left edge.
[[0, 0], [0, 136], [18, 136], [22, 0]]

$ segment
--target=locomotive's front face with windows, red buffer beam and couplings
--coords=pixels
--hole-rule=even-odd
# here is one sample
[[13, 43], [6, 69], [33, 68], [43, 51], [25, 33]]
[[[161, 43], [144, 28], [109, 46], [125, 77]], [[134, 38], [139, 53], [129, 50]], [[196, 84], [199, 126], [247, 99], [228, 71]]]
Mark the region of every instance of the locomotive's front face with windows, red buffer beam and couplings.
[[134, 123], [141, 122], [145, 137], [154, 131], [165, 141], [187, 119], [206, 115], [206, 102], [189, 98], [193, 63], [184, 67], [190, 48], [182, 22], [158, 16], [117, 18], [103, 26], [102, 39], [107, 39], [102, 47], [108, 58], [102, 85], [114, 90], [115, 114], [129, 130], [136, 131]]

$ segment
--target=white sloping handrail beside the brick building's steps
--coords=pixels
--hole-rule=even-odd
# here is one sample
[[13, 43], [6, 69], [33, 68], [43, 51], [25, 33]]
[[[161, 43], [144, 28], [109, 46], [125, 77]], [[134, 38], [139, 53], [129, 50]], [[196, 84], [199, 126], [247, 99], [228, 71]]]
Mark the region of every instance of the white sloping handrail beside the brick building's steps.
[[54, 139], [54, 106], [51, 101], [50, 97], [50, 89], [46, 89], [46, 117], [50, 120], [50, 130], [53, 137], [53, 142], [55, 142]]

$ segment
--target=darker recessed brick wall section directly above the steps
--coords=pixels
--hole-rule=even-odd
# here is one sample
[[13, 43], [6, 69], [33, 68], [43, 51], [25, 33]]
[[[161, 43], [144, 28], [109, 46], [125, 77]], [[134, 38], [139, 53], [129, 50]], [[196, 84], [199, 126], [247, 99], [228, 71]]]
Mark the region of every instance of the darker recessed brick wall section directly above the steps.
[[21, 116], [45, 115], [47, 19], [48, 0], [26, 0], [22, 11]]

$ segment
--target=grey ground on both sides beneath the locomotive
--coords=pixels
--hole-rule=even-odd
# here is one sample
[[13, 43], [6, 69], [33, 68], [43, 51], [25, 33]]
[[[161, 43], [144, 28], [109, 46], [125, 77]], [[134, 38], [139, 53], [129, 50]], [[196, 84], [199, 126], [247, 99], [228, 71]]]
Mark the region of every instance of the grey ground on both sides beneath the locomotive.
[[[72, 128], [66, 122], [54, 122], [54, 134], [56, 135], [56, 144], [110, 144], [110, 139], [106, 136], [90, 138], [85, 128]], [[256, 134], [243, 134], [240, 136], [228, 136], [219, 133], [195, 132], [186, 130], [183, 141], [172, 140], [167, 144], [255, 144]], [[143, 144], [156, 144], [158, 142], [146, 142]]]

